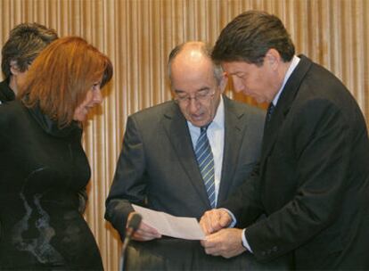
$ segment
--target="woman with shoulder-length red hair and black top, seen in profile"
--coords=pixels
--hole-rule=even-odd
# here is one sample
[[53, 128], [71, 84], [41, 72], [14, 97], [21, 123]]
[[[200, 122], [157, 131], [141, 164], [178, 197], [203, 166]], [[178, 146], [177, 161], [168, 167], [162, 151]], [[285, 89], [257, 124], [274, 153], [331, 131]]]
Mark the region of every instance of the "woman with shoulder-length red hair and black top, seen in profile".
[[90, 179], [82, 123], [111, 61], [80, 37], [48, 45], [19, 100], [0, 105], [0, 269], [102, 270], [78, 192]]

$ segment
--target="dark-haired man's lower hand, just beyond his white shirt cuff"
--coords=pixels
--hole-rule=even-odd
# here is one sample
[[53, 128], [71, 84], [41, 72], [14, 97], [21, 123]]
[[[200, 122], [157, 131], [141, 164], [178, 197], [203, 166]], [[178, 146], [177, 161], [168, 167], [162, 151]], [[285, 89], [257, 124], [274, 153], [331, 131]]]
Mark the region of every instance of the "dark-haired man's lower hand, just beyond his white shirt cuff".
[[207, 254], [232, 258], [246, 251], [242, 246], [242, 229], [226, 228], [201, 241]]

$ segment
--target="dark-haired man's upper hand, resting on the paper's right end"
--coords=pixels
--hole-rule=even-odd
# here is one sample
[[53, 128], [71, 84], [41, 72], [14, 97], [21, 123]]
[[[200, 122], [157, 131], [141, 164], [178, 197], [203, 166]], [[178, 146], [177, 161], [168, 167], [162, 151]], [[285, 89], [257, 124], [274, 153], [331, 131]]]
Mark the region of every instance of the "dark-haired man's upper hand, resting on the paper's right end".
[[200, 226], [204, 234], [208, 235], [229, 226], [231, 222], [232, 218], [225, 209], [210, 209], [202, 215]]

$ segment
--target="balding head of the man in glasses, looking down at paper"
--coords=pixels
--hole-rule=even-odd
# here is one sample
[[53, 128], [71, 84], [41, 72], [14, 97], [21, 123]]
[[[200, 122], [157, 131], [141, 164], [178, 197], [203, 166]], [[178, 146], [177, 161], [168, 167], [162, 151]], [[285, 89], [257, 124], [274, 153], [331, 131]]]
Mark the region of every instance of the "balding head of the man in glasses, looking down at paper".
[[209, 124], [217, 113], [227, 78], [213, 64], [211, 49], [203, 42], [178, 45], [169, 55], [172, 92], [184, 118], [195, 127]]

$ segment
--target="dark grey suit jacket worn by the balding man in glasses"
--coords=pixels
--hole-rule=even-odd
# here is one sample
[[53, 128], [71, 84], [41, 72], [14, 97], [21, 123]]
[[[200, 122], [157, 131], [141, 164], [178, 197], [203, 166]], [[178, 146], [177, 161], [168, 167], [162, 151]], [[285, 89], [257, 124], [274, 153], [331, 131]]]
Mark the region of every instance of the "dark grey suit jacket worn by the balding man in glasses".
[[[257, 108], [223, 98], [225, 149], [218, 202], [233, 193], [258, 162], [265, 118]], [[174, 102], [127, 119], [105, 212], [122, 237], [133, 210], [130, 203], [194, 218], [211, 209], [187, 122]]]

